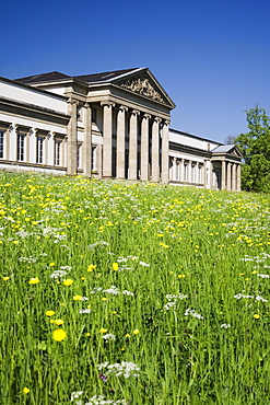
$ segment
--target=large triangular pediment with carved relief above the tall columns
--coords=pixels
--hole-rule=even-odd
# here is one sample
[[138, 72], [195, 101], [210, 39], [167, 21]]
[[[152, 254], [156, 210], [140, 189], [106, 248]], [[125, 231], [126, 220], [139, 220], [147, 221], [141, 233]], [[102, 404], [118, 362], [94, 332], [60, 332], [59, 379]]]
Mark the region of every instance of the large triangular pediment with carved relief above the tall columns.
[[173, 100], [167, 95], [155, 77], [146, 68], [136, 69], [136, 71], [124, 74], [121, 78], [117, 78], [113, 82], [121, 89], [137, 93], [146, 99], [151, 99], [154, 102], [168, 105], [171, 108], [175, 107]]

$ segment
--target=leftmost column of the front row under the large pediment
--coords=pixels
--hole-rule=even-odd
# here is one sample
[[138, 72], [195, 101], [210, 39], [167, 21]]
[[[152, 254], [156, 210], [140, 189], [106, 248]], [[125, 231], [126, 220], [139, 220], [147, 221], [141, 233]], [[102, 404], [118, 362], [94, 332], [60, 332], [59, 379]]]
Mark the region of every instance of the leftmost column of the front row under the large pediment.
[[102, 102], [103, 106], [103, 171], [102, 176], [105, 178], [111, 177], [113, 172], [113, 107], [114, 103], [107, 101]]

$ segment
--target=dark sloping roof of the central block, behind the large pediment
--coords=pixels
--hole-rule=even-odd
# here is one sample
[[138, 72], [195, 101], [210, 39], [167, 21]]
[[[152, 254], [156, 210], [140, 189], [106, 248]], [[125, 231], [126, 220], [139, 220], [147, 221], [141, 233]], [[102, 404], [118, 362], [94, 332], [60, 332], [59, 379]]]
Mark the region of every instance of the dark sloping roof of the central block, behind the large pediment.
[[15, 81], [20, 83], [31, 84], [31, 83], [49, 82], [49, 81], [55, 81], [55, 80], [78, 79], [85, 83], [93, 83], [93, 82], [108, 81], [108, 80], [118, 78], [122, 74], [129, 73], [138, 69], [139, 68], [113, 70], [108, 72], [82, 74], [82, 76], [68, 76], [68, 74], [64, 74], [58, 71], [54, 71], [54, 72], [40, 73], [40, 74], [35, 74], [35, 76], [28, 76], [26, 78], [15, 79]]

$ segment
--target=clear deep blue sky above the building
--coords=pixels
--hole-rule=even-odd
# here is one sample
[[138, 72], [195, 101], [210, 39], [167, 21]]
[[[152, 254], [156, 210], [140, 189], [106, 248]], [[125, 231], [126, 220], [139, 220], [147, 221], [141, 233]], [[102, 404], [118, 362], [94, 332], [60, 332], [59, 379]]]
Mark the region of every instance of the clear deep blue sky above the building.
[[172, 127], [223, 142], [243, 112], [270, 109], [270, 1], [0, 2], [0, 76], [149, 67], [176, 104]]

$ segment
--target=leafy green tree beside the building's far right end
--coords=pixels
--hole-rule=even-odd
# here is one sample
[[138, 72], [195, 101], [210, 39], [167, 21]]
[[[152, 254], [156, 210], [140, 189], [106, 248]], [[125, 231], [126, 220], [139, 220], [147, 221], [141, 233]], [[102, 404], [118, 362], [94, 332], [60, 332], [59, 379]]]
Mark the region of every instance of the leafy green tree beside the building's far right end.
[[242, 167], [242, 187], [246, 190], [270, 192], [270, 118], [266, 109], [245, 111], [247, 134], [240, 134], [235, 139], [244, 164]]

